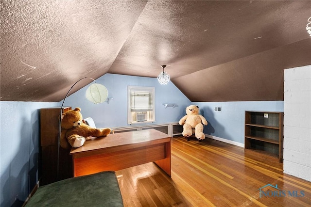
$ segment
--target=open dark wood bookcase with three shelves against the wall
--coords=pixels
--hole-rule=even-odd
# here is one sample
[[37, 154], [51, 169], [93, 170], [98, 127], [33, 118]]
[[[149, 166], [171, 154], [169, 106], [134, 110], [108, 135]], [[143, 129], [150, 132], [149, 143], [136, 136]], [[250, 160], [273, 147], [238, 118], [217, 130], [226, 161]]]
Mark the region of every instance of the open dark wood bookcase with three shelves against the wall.
[[245, 111], [245, 154], [283, 162], [283, 112]]

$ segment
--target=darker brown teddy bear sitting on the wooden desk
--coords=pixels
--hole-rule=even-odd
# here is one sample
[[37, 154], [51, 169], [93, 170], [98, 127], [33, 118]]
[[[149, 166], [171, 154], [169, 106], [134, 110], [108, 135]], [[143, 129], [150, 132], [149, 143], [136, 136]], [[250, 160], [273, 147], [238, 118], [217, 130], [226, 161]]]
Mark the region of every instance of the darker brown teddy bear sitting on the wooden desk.
[[69, 148], [70, 145], [77, 148], [86, 142], [87, 137], [103, 137], [111, 132], [111, 128], [93, 128], [83, 123], [80, 111], [80, 108], [75, 108], [58, 117], [62, 119], [60, 138], [62, 148]]

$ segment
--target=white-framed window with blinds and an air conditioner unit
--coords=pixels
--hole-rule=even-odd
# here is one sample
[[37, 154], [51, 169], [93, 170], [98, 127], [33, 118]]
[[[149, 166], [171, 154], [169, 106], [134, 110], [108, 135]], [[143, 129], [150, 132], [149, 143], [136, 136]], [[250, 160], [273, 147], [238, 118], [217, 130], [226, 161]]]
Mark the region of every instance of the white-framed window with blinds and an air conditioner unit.
[[155, 122], [155, 88], [127, 86], [128, 124]]

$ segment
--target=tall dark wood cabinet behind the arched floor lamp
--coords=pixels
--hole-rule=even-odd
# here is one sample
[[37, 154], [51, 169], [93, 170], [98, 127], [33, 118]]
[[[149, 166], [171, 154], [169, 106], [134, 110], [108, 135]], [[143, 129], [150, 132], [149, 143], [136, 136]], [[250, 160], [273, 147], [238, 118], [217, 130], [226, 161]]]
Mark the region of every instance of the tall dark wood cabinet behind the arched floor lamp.
[[[71, 107], [64, 107], [64, 111]], [[70, 149], [59, 150], [59, 173], [57, 176], [58, 131], [61, 108], [40, 109], [41, 179], [40, 185], [72, 177]]]

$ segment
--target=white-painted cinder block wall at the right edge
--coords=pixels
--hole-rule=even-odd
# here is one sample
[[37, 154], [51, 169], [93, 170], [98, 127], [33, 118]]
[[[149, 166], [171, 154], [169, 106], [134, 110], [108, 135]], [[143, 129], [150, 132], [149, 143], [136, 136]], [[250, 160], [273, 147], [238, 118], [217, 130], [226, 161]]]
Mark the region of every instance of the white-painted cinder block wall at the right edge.
[[284, 70], [284, 173], [311, 181], [311, 65]]

